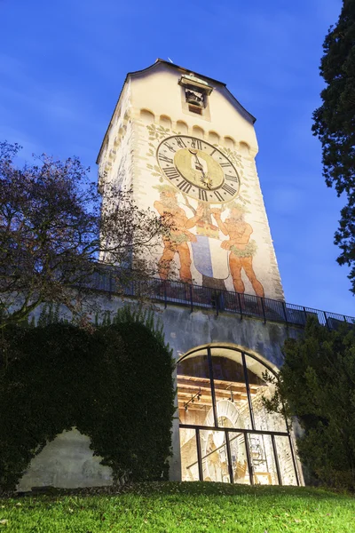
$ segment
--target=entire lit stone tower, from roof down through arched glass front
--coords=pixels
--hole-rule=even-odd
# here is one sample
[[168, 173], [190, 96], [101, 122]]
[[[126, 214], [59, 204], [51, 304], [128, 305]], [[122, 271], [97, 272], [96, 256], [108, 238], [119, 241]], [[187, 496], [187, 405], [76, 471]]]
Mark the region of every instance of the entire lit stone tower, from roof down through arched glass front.
[[302, 482], [288, 424], [262, 401], [306, 312], [284, 303], [254, 123], [225, 84], [156, 60], [126, 77], [99, 151], [104, 204], [109, 184], [130, 187], [173, 221], [154, 298], [177, 362], [175, 480]]

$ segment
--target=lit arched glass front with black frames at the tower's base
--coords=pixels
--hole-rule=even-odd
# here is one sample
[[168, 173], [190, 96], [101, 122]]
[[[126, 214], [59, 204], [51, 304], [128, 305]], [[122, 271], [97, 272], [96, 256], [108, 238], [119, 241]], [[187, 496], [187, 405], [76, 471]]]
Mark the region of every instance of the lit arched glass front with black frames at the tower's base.
[[238, 347], [194, 348], [177, 362], [183, 481], [300, 484], [285, 418], [270, 414], [270, 363]]

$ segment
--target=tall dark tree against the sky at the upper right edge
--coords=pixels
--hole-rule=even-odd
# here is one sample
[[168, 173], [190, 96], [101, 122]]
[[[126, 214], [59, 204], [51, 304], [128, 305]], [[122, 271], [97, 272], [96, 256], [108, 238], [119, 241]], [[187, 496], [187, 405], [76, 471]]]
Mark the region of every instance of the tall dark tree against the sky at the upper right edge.
[[341, 249], [337, 261], [351, 267], [349, 279], [355, 293], [355, 0], [343, 0], [335, 27], [323, 44], [320, 74], [326, 88], [322, 105], [313, 113], [313, 134], [322, 145], [323, 175], [328, 187], [345, 195], [335, 244]]

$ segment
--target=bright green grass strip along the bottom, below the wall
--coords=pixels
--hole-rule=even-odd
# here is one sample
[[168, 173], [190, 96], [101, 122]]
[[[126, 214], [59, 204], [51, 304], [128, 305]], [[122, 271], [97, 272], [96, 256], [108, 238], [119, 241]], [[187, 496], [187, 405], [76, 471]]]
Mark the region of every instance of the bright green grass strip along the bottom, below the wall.
[[325, 489], [146, 483], [122, 494], [0, 499], [0, 532], [355, 532], [355, 497]]

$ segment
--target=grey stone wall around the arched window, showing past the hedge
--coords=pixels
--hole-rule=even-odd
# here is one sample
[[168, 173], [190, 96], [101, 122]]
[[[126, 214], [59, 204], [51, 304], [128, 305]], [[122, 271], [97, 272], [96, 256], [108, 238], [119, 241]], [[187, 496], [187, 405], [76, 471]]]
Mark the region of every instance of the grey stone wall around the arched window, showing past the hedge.
[[[94, 301], [98, 309], [102, 312], [109, 311], [112, 317], [119, 307], [129, 303], [137, 305], [135, 302], [104, 295], [95, 297]], [[89, 308], [91, 307], [89, 305]], [[38, 308], [36, 317], [40, 312]], [[256, 354], [259, 359], [276, 369], [282, 364], [281, 347], [285, 339], [302, 335], [302, 329], [287, 327], [282, 323], [264, 323], [246, 317], [241, 320], [239, 315], [235, 314], [224, 313], [216, 316], [212, 311], [191, 313], [189, 308], [182, 306], [168, 306], [166, 309], [163, 306], [155, 306], [155, 316], [162, 322], [165, 339], [169, 342], [176, 361], [197, 346], [223, 345], [239, 347], [248, 353]], [[179, 481], [181, 468], [178, 418], [173, 421], [172, 449], [170, 479]], [[287, 453], [285, 447], [285, 454]], [[36, 485], [87, 487], [111, 483], [108, 470], [99, 465], [99, 457], [92, 457], [88, 437], [73, 430], [60, 434], [33, 459], [28, 473], [20, 481], [20, 489]]]

